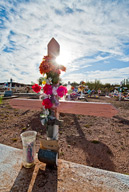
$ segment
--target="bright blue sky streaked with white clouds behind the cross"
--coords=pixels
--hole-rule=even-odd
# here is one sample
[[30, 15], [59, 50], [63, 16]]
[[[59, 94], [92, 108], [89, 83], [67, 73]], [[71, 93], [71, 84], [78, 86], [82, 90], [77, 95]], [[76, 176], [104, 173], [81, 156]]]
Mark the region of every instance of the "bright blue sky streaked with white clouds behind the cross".
[[129, 78], [129, 0], [0, 0], [0, 82], [37, 82], [54, 37], [63, 82]]

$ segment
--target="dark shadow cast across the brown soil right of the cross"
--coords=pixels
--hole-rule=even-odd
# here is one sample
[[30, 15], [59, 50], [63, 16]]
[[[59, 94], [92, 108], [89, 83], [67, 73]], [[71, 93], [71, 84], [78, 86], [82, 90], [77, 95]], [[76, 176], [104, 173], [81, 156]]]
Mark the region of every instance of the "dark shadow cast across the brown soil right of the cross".
[[76, 115], [73, 115], [73, 118], [79, 136], [67, 136], [67, 142], [70, 145], [73, 145], [72, 141], [76, 141], [77, 146], [79, 146], [85, 153], [86, 164], [88, 166], [115, 171], [115, 166], [111, 160], [113, 154], [110, 148], [100, 141], [88, 141]]

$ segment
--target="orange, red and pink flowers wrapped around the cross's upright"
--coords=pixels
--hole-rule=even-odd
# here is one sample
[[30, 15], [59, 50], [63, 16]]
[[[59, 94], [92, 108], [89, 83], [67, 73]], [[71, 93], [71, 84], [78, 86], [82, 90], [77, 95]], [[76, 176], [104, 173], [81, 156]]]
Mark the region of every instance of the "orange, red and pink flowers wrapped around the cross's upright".
[[61, 71], [66, 71], [63, 65], [57, 64], [55, 58], [44, 56], [40, 66], [40, 73], [43, 75], [42, 87], [38, 84], [32, 86], [36, 93], [40, 93], [42, 99], [43, 114], [41, 114], [42, 125], [58, 124], [56, 110], [59, 105], [59, 98], [67, 93], [67, 88], [59, 85]]

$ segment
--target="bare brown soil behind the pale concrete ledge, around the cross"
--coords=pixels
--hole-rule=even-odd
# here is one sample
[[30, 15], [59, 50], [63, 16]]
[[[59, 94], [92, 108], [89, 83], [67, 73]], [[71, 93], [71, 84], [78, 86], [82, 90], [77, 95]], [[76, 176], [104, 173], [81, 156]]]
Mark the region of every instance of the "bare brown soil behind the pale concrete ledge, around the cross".
[[[112, 103], [118, 114], [113, 118], [60, 114], [59, 158], [100, 169], [129, 174], [129, 101], [114, 98], [88, 98], [88, 101]], [[35, 130], [36, 150], [46, 130], [40, 112], [13, 109], [9, 100], [0, 104], [0, 143], [22, 148], [20, 134]]]

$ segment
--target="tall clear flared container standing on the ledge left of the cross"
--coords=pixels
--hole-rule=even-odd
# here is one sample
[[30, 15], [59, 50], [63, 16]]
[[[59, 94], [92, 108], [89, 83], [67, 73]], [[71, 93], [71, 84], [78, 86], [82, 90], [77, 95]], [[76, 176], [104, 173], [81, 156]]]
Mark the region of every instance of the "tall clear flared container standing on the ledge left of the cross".
[[23, 166], [26, 168], [34, 166], [36, 135], [36, 131], [25, 131], [20, 135], [23, 145]]

